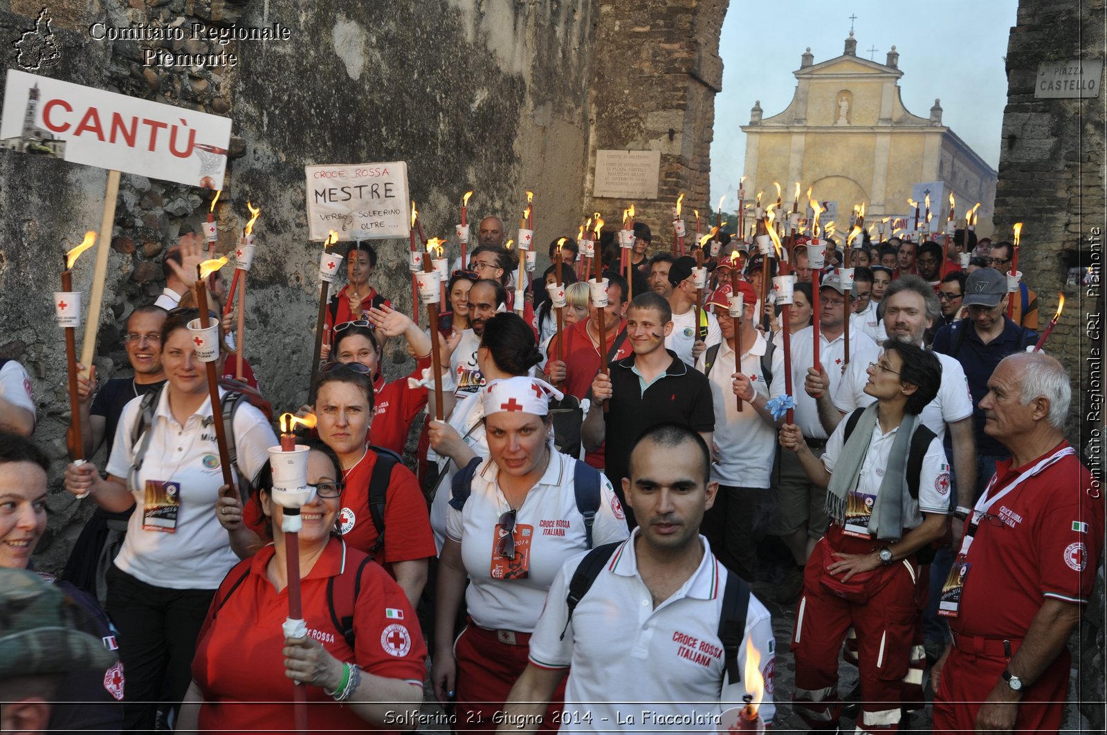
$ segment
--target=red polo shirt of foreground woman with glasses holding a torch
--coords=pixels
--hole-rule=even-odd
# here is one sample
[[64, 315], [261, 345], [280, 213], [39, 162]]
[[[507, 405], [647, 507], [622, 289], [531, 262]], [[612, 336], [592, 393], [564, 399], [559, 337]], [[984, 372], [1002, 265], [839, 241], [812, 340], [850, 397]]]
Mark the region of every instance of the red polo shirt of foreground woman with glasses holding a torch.
[[[228, 572], [200, 629], [193, 679], [204, 693], [199, 726], [206, 733], [287, 732], [293, 720], [292, 680], [284, 676], [281, 624], [288, 617], [288, 591], [277, 592], [266, 576], [275, 549], [269, 545]], [[331, 538], [301, 580], [308, 634], [340, 661], [365, 673], [422, 685], [426, 646], [415, 610], [376, 565], [365, 565], [354, 601], [354, 648], [331, 620], [327, 583], [353, 576], [365, 555]], [[242, 574], [246, 577], [242, 578]], [[236, 581], [241, 584], [228, 594]], [[223, 602], [225, 600], [225, 602]], [[223, 607], [220, 608], [220, 602]], [[335, 611], [339, 615], [343, 611]], [[365, 732], [370, 725], [318, 686], [308, 686], [308, 729], [313, 733]], [[374, 731], [375, 732], [375, 731]]]

